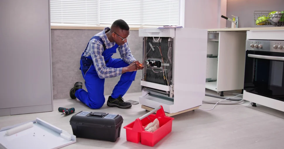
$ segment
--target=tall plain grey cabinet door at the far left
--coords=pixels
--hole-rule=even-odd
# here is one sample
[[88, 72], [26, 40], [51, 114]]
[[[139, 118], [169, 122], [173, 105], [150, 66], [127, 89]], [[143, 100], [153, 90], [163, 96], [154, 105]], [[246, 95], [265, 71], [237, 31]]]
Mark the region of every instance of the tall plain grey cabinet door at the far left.
[[0, 1], [0, 109], [52, 104], [48, 0]]

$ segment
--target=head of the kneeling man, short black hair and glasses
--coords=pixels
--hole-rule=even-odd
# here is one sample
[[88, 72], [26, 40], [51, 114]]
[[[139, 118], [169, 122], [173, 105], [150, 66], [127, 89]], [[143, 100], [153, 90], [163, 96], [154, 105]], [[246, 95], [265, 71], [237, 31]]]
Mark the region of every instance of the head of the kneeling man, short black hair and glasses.
[[114, 21], [110, 27], [110, 31], [116, 44], [123, 45], [127, 42], [126, 38], [129, 36], [129, 26], [124, 20]]

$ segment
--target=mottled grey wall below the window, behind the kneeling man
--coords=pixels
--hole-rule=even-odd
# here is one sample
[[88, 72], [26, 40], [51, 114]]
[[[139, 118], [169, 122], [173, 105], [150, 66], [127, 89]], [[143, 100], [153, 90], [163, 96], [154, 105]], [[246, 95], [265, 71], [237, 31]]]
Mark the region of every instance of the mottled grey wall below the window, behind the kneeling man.
[[[65, 99], [69, 97], [69, 91], [74, 83], [81, 81], [84, 84], [80, 67], [80, 58], [85, 50], [88, 41], [92, 36], [101, 30], [84, 29], [52, 29], [51, 48], [52, 48], [52, 84], [54, 99]], [[138, 37], [138, 31], [130, 31], [127, 39], [129, 48], [134, 57], [142, 61], [142, 37]], [[119, 52], [112, 58], [120, 58]], [[140, 80], [142, 71], [136, 73], [135, 81], [128, 90], [131, 92], [141, 92]], [[112, 93], [114, 86], [120, 77], [107, 78], [105, 80], [105, 95]], [[85, 88], [85, 85], [83, 87]]]

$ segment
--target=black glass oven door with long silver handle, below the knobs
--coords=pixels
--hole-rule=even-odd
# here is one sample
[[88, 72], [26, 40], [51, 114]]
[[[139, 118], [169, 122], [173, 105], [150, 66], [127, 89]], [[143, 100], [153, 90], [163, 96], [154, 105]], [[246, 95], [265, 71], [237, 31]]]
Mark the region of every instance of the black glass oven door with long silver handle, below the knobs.
[[284, 53], [246, 51], [244, 90], [284, 101]]

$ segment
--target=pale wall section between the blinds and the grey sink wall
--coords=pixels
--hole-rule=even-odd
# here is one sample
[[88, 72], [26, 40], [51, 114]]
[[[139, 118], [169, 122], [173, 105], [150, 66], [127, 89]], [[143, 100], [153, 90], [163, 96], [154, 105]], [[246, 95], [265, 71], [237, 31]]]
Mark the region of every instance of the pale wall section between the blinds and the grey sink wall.
[[216, 29], [225, 27], [227, 0], [185, 0], [184, 27]]

